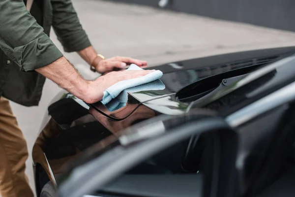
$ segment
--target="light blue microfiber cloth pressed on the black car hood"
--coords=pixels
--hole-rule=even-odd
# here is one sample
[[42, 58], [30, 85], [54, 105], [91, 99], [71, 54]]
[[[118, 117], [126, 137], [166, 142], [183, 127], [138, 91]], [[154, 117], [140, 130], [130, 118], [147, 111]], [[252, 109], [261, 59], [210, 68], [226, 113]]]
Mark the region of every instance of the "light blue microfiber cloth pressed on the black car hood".
[[[132, 64], [127, 70], [142, 70], [142, 68]], [[162, 75], [163, 73], [160, 70], [155, 70], [139, 78], [119, 81], [103, 92], [101, 102], [109, 111], [116, 111], [126, 105], [128, 101], [127, 92], [134, 93], [148, 90], [164, 90], [165, 85], [159, 80]]]

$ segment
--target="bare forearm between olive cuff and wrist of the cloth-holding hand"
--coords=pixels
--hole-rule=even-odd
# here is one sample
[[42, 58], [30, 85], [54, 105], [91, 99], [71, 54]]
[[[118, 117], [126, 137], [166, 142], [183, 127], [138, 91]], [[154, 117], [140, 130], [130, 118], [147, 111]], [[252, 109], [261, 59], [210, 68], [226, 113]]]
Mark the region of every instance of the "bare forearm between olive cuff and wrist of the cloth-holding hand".
[[79, 99], [86, 98], [89, 81], [83, 79], [78, 71], [64, 57], [59, 58], [52, 64], [38, 68], [36, 71]]

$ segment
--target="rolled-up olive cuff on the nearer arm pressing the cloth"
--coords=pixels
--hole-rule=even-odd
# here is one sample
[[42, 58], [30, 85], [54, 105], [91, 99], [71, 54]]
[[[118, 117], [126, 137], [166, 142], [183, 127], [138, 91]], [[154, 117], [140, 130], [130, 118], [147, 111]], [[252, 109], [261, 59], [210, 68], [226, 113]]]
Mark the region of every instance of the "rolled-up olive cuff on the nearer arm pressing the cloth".
[[47, 66], [63, 56], [46, 34], [26, 45], [14, 48], [13, 55], [21, 71], [32, 71]]

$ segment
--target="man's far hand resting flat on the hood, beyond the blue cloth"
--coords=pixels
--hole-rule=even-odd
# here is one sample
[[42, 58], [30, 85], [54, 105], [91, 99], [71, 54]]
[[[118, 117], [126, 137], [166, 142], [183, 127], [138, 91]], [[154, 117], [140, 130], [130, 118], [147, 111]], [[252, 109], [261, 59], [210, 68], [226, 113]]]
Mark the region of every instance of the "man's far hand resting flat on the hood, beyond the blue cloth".
[[146, 67], [147, 61], [136, 60], [133, 58], [127, 57], [114, 57], [110, 59], [102, 60], [100, 57], [94, 59], [92, 66], [95, 67], [96, 71], [99, 73], [105, 73], [108, 71], [112, 71], [114, 69], [124, 69], [127, 64], [136, 64], [140, 67]]

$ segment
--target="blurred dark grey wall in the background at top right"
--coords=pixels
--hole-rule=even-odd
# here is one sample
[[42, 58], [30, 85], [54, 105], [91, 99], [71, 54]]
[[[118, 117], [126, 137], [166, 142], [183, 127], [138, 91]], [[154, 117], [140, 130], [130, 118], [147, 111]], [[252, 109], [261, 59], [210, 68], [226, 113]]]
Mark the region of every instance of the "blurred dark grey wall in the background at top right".
[[[113, 0], [158, 7], [160, 0]], [[167, 0], [162, 0], [165, 4]], [[164, 9], [295, 32], [295, 0], [168, 0]]]

